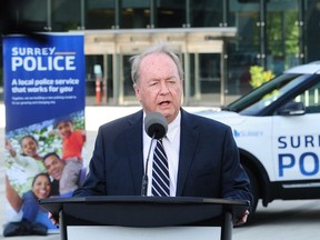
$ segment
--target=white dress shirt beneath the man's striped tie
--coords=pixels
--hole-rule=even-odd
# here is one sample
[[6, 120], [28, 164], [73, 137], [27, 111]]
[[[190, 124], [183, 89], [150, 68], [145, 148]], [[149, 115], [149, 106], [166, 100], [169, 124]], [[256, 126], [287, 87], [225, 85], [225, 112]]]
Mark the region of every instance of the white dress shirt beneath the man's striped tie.
[[[143, 114], [143, 119], [146, 113]], [[166, 137], [162, 139], [163, 148], [168, 158], [169, 177], [170, 177], [170, 196], [174, 197], [177, 191], [177, 178], [178, 178], [178, 167], [179, 167], [179, 151], [180, 151], [180, 122], [181, 113], [168, 126], [168, 131]], [[144, 131], [143, 121], [143, 166], [146, 169], [148, 151], [151, 142], [151, 138]], [[152, 163], [153, 163], [153, 151], [157, 144], [157, 140], [152, 142], [150, 158], [148, 163], [148, 190], [147, 196], [151, 196], [151, 183], [152, 183]]]

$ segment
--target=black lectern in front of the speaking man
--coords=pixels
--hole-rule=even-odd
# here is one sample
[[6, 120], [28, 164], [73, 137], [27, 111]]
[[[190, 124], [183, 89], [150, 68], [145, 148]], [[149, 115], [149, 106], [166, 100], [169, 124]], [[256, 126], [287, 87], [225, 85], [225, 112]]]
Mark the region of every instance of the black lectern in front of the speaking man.
[[230, 240], [233, 223], [249, 208], [247, 201], [193, 197], [97, 196], [48, 198], [39, 203], [60, 216], [62, 240], [68, 240], [70, 226], [220, 227], [220, 239]]

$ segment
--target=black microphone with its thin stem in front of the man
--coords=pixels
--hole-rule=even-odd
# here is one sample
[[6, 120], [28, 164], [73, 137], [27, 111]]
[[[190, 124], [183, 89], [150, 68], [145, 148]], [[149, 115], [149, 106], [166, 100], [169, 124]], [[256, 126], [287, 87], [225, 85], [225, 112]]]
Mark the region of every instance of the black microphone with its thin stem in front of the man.
[[150, 112], [144, 118], [144, 131], [151, 138], [147, 161], [146, 161], [146, 169], [144, 174], [142, 177], [142, 186], [141, 186], [141, 196], [147, 196], [148, 189], [148, 164], [149, 158], [151, 152], [151, 147], [154, 139], [161, 139], [166, 136], [168, 131], [168, 122], [167, 119], [159, 112]]

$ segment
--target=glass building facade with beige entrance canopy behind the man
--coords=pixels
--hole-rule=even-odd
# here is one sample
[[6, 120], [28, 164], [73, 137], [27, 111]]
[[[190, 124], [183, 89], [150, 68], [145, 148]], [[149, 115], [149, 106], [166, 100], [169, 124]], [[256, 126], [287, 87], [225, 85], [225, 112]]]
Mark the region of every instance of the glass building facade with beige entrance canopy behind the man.
[[320, 59], [319, 11], [320, 0], [28, 0], [14, 16], [37, 31], [83, 31], [87, 104], [97, 67], [101, 104], [138, 103], [128, 60], [160, 39], [181, 53], [184, 106], [222, 106], [251, 90], [251, 66], [278, 74]]

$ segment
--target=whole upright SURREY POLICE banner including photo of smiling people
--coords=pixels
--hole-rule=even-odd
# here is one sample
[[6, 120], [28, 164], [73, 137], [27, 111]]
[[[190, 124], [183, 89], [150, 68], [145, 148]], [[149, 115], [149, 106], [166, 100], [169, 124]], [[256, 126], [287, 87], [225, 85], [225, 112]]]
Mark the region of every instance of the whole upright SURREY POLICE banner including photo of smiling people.
[[37, 200], [70, 196], [81, 182], [83, 49], [82, 34], [3, 38], [7, 236], [21, 222], [54, 229]]

